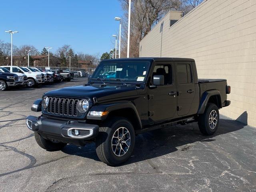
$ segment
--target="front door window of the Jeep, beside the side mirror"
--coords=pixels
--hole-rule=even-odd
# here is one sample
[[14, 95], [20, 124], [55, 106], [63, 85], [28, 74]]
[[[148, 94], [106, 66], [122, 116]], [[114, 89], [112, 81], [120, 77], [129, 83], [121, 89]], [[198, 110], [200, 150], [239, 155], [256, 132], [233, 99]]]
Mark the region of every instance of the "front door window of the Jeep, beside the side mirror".
[[164, 76], [164, 85], [172, 84], [172, 68], [168, 64], [156, 65], [154, 67], [154, 75], [163, 75]]

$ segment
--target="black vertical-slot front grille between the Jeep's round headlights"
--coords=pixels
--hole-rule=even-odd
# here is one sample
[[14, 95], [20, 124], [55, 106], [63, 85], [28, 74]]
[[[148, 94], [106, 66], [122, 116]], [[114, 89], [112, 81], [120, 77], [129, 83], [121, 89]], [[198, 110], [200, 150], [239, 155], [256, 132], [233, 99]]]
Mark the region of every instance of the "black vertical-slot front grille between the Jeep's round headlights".
[[45, 111], [49, 114], [77, 117], [79, 115], [78, 102], [78, 99], [49, 97], [49, 104]]

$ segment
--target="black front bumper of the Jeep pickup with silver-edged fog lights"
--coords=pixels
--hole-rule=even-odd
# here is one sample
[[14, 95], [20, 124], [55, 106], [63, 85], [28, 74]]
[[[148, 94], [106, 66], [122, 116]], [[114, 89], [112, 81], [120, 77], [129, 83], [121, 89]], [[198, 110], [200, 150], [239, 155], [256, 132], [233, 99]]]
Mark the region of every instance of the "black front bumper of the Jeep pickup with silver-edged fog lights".
[[[28, 116], [26, 118], [26, 124], [30, 130], [38, 132], [45, 139], [70, 143], [77, 146], [84, 146], [84, 141], [95, 138], [99, 130], [98, 125], [71, 120], [55, 120], [43, 116]], [[75, 129], [88, 134], [81, 136], [72, 135], [72, 130]]]

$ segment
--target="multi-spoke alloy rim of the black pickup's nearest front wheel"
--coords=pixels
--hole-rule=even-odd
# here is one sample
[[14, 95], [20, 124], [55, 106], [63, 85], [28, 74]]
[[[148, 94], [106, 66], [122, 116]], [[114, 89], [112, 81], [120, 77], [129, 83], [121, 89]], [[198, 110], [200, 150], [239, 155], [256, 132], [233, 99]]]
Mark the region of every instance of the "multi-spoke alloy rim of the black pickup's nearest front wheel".
[[121, 157], [125, 155], [126, 152], [128, 152], [130, 144], [131, 144], [131, 136], [128, 129], [126, 129], [125, 127], [118, 128], [112, 136], [112, 140], [111, 140], [112, 152], [116, 156]]

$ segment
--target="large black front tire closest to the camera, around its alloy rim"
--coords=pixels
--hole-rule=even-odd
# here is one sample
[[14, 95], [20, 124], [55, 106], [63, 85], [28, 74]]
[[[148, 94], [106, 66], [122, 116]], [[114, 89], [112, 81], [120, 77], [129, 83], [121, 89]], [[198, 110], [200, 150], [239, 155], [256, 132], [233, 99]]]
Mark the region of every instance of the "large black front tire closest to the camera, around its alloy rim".
[[[118, 148], [118, 150], [119, 150], [120, 145], [124, 147], [124, 148], [121, 147], [122, 150], [120, 149], [120, 151], [122, 151], [122, 153], [119, 153], [119, 155], [121, 154], [122, 156], [117, 156], [113, 152], [114, 149], [112, 148], [112, 137], [116, 133], [116, 130], [118, 130], [119, 128], [121, 129], [122, 127], [126, 128], [130, 134], [130, 146], [125, 145], [124, 143], [121, 143], [122, 141], [120, 141], [120, 140], [122, 140], [123, 137], [119, 139], [120, 143], [118, 143], [118, 139], [116, 139], [116, 141], [117, 141], [116, 148]], [[128, 134], [124, 134], [124, 137], [126, 137], [126, 136], [129, 137]], [[126, 137], [124, 139], [126, 139], [126, 141], [127, 141], [127, 140], [129, 140], [129, 139], [127, 139], [128, 137]], [[119, 146], [117, 146], [118, 144], [119, 144]], [[128, 160], [128, 158], [131, 156], [131, 154], [133, 152], [134, 145], [135, 145], [134, 128], [133, 128], [132, 124], [130, 123], [130, 121], [127, 120], [126, 118], [121, 118], [121, 117], [120, 118], [118, 118], [118, 117], [112, 118], [110, 120], [107, 120], [99, 128], [99, 134], [96, 138], [96, 153], [98, 155], [98, 158], [102, 162], [104, 162], [110, 166], [116, 166], [116, 165], [126, 162], [126, 160]], [[127, 146], [128, 146], [128, 149], [127, 149]], [[124, 150], [126, 150], [126, 152]], [[116, 151], [116, 153], [118, 154], [118, 151]]]

